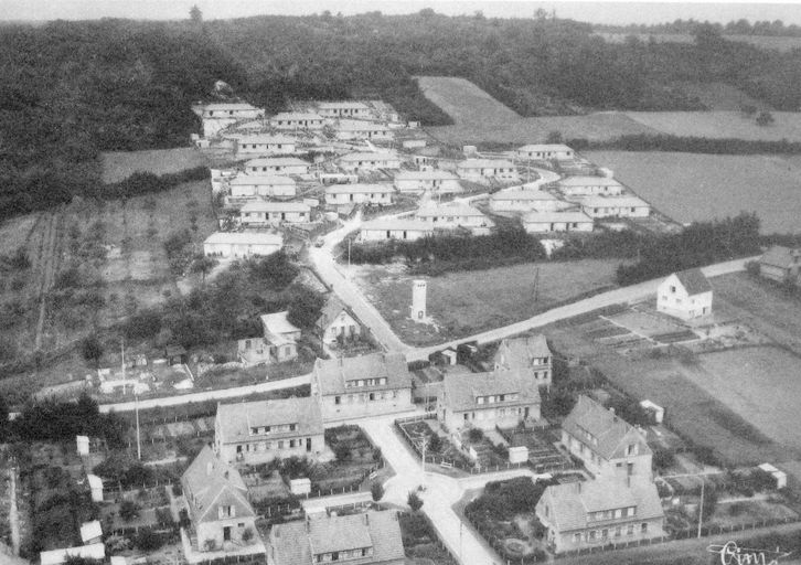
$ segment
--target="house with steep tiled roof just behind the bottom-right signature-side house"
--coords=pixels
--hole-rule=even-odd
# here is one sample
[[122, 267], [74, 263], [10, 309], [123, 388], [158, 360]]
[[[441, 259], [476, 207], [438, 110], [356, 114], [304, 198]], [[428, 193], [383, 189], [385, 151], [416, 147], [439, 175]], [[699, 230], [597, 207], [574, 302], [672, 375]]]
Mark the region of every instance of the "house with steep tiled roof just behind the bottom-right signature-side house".
[[589, 396], [579, 395], [562, 423], [562, 445], [596, 477], [651, 480], [644, 433]]

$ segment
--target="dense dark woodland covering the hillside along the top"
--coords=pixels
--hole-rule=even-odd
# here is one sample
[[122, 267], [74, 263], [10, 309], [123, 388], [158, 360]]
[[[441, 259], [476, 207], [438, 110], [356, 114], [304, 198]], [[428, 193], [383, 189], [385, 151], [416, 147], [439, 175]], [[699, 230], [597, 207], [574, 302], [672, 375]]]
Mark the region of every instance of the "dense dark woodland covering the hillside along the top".
[[675, 81], [735, 85], [801, 106], [801, 57], [699, 26], [695, 44], [608, 44], [548, 18], [372, 12], [196, 22], [56, 21], [0, 28], [0, 218], [96, 195], [104, 150], [185, 146], [192, 102], [222, 79], [268, 111], [303, 98], [375, 97], [449, 122], [418, 74], [463, 76], [521, 115], [699, 109]]

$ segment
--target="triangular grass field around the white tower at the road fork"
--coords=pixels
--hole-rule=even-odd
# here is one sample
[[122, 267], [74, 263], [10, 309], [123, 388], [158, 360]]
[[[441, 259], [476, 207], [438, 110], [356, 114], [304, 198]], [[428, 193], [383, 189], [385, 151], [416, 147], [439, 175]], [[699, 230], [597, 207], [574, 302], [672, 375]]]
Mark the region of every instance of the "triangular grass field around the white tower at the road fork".
[[[409, 320], [412, 280], [399, 269], [355, 269], [362, 289], [407, 343], [431, 344], [531, 318], [578, 296], [615, 285], [617, 260], [540, 263], [428, 278], [428, 315], [436, 327]], [[538, 300], [534, 281], [540, 270]]]

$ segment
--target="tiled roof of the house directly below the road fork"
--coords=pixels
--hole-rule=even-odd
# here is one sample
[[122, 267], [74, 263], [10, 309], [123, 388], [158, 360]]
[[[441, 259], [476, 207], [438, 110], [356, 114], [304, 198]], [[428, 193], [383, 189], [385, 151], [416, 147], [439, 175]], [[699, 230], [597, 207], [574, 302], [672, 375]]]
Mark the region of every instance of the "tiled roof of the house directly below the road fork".
[[386, 377], [385, 385], [364, 386], [359, 391], [392, 391], [412, 386], [412, 375], [403, 353], [369, 353], [314, 362], [314, 379], [323, 396], [344, 393], [345, 381], [382, 376]]

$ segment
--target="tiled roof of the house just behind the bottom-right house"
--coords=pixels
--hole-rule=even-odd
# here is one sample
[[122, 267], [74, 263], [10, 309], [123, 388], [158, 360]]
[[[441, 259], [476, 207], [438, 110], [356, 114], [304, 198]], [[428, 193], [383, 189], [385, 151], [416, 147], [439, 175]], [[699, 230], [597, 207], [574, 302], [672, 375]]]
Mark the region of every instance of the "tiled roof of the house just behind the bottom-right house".
[[[562, 429], [607, 460], [622, 457], [623, 446], [629, 438], [642, 439], [637, 428], [584, 394], [578, 396], [576, 406], [562, 423]], [[651, 452], [644, 440], [638, 452]]]

